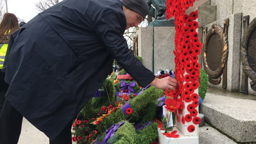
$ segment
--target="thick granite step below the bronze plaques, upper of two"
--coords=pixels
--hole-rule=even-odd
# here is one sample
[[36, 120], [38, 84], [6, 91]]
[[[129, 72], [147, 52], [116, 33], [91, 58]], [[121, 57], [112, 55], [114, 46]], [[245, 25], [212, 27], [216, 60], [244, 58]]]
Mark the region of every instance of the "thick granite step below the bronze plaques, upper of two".
[[199, 107], [204, 121], [237, 142], [256, 142], [256, 96], [209, 88]]

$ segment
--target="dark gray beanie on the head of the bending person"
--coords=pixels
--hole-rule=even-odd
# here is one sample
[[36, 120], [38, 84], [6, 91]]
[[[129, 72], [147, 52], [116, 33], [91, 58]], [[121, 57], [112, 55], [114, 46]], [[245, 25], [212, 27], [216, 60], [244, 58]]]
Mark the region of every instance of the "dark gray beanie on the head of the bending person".
[[148, 15], [148, 4], [146, 0], [120, 0], [127, 9], [138, 12], [144, 19]]

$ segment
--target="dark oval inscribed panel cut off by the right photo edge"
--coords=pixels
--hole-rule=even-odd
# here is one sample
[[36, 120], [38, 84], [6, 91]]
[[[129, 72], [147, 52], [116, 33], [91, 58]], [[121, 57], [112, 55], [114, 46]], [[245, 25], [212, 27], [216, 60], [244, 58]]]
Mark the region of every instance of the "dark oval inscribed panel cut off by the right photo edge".
[[256, 72], [256, 31], [252, 33], [247, 49], [248, 63], [253, 71]]

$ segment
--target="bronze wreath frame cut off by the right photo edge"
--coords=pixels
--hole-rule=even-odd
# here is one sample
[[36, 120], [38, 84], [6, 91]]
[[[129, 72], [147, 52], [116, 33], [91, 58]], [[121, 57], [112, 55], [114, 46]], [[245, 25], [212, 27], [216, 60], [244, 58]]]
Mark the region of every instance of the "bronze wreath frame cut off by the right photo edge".
[[256, 30], [256, 18], [254, 18], [247, 29], [245, 28], [245, 34], [242, 38], [242, 44], [241, 44], [241, 63], [243, 65], [243, 70], [246, 75], [253, 81], [251, 83], [251, 88], [256, 91], [256, 87], [254, 86], [256, 83], [256, 72], [250, 67], [248, 63], [248, 57], [247, 57], [247, 49], [248, 49], [248, 40], [250, 39], [251, 34]]

